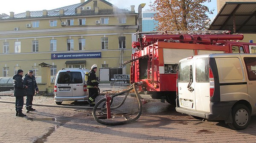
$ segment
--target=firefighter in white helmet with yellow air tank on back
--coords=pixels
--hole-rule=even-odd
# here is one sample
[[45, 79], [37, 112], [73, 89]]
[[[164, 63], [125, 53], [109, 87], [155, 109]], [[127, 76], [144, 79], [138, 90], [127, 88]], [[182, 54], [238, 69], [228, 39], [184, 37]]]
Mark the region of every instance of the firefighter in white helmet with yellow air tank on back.
[[98, 84], [99, 81], [96, 77], [96, 71], [97, 71], [97, 64], [93, 64], [91, 67], [88, 81], [87, 81], [87, 88], [89, 89], [89, 99], [88, 103], [90, 104], [90, 107], [95, 106], [95, 98], [98, 96]]

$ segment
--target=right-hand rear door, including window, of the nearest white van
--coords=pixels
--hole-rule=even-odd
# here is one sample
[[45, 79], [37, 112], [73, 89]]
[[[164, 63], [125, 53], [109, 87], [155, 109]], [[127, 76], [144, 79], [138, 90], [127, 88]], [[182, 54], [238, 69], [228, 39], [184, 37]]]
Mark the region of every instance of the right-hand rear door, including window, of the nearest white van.
[[209, 58], [195, 59], [195, 105], [197, 111], [210, 112]]

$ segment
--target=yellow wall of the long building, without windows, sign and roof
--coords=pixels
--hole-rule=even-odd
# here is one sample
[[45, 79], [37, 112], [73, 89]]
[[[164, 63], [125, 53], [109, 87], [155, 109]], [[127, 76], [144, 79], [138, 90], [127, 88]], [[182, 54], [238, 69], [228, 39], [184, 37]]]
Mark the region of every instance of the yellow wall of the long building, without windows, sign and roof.
[[[98, 0], [99, 9], [111, 9], [110, 5]], [[93, 8], [93, 0], [86, 3], [86, 6]], [[112, 8], [113, 9], [113, 8]], [[119, 24], [118, 17], [126, 17], [126, 22]], [[96, 20], [101, 17], [108, 17], [108, 24], [96, 24]], [[86, 24], [79, 25], [79, 19], [85, 18]], [[74, 19], [73, 26], [63, 26], [61, 21]], [[108, 15], [74, 15], [63, 17], [33, 17], [33, 18], [14, 18], [0, 20], [0, 76], [3, 75], [3, 68], [9, 67], [9, 76], [15, 74], [15, 67], [20, 67], [26, 73], [32, 70], [32, 66], [44, 62], [57, 65], [57, 72], [67, 67], [67, 61], [86, 60], [84, 67], [90, 69], [93, 64], [99, 68], [102, 64], [108, 64], [108, 67], [119, 67], [120, 60], [128, 61], [131, 59], [131, 42], [134, 39], [134, 33], [137, 30], [137, 14], [130, 11], [126, 13], [108, 14]], [[26, 27], [26, 24], [32, 24], [32, 21], [39, 20], [39, 28]], [[56, 27], [50, 27], [49, 20], [57, 20]], [[19, 28], [14, 31], [14, 28]], [[119, 49], [119, 36], [125, 36], [125, 46], [123, 50]], [[102, 50], [102, 37], [108, 37], [108, 49]], [[85, 50], [79, 50], [79, 39], [85, 39]], [[50, 51], [50, 40], [57, 40], [57, 50]], [[67, 50], [67, 39], [74, 40], [74, 50]], [[136, 38], [135, 38], [136, 39]], [[32, 52], [32, 41], [38, 40], [39, 51]], [[21, 42], [21, 52], [15, 53], [15, 41]], [[9, 53], [3, 53], [3, 42], [9, 42]], [[52, 54], [60, 53], [101, 53], [100, 58], [80, 58], [80, 59], [52, 59]], [[121, 59], [120, 59], [121, 57]], [[38, 66], [38, 75], [41, 76], [41, 67]], [[97, 71], [97, 74], [99, 71]], [[126, 70], [130, 74], [130, 68]]]

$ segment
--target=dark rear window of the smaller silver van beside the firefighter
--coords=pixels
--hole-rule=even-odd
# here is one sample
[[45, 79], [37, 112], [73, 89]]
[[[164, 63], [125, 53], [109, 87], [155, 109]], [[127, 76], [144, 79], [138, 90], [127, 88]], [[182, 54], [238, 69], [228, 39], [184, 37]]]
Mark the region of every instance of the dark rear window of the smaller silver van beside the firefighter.
[[81, 72], [60, 72], [58, 74], [58, 84], [81, 84], [83, 78]]

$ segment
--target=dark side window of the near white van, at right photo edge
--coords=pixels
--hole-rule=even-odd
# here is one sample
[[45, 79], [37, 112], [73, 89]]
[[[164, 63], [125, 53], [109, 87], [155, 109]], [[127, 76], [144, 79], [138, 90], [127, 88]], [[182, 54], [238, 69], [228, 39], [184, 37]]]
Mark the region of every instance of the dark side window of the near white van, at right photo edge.
[[256, 81], [256, 58], [244, 57], [244, 63], [246, 65], [248, 79], [250, 81]]

